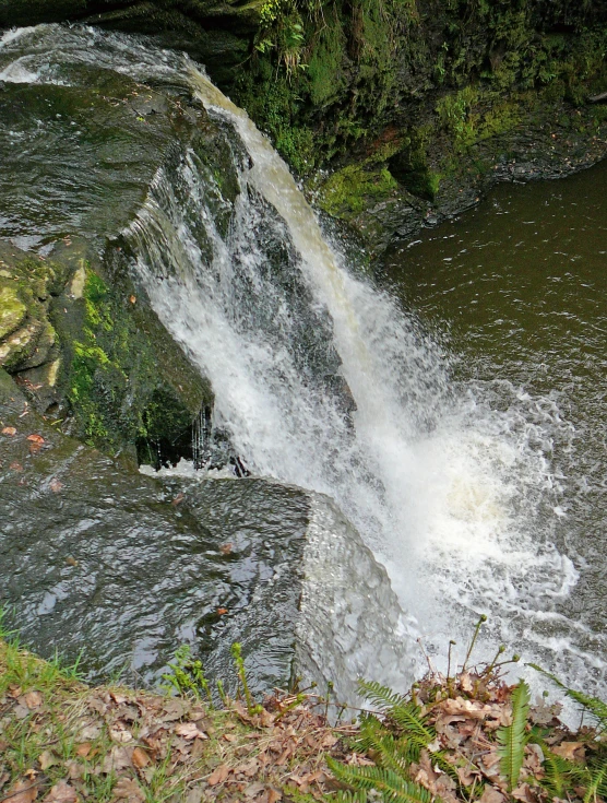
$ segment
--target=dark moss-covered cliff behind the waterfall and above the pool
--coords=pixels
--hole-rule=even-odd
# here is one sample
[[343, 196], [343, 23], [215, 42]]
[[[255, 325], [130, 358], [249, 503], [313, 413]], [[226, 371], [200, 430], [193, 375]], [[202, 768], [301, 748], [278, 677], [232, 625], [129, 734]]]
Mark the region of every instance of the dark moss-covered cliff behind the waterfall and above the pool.
[[60, 20], [203, 61], [376, 251], [606, 153], [605, 0], [0, 0], [0, 27]]

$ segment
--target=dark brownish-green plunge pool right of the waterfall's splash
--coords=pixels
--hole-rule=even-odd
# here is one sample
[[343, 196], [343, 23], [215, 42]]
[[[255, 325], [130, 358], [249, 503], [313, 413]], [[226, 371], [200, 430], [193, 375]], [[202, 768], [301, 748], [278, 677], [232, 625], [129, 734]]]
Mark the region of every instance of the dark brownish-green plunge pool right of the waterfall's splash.
[[607, 163], [500, 186], [393, 248], [380, 276], [450, 354], [455, 385], [499, 410], [519, 451], [544, 465], [517, 481], [533, 497], [525, 527], [571, 560], [576, 579], [548, 604], [512, 606], [501, 631], [533, 629], [548, 660], [560, 656], [570, 676], [578, 661], [605, 688]]

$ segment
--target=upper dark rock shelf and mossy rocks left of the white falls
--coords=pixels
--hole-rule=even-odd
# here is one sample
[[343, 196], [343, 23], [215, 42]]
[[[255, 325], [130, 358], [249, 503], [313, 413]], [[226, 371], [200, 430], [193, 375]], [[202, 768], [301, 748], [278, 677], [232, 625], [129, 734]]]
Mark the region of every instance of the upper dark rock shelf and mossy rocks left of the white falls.
[[1, 48], [0, 366], [67, 434], [154, 463], [189, 454], [213, 397], [119, 235], [160, 167], [190, 146], [213, 161], [216, 132], [185, 81], [146, 83], [136, 43], [139, 80], [99, 39], [40, 26]]

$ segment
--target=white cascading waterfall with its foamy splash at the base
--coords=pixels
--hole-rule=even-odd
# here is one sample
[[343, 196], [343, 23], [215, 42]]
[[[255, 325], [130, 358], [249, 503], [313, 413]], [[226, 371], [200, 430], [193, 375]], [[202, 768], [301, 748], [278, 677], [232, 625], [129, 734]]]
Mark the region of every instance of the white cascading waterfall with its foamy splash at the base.
[[[225, 133], [226, 175], [190, 151], [158, 172], [123, 238], [248, 469], [336, 501], [389, 569], [410, 614], [404, 638], [444, 650], [484, 612], [493, 640], [566, 678], [583, 663], [603, 683], [600, 645], [584, 653], [575, 623], [559, 623], [560, 656], [543, 636], [576, 581], [551, 540], [560, 487], [543, 444], [547, 423], [568, 436], [558, 410], [519, 394], [500, 411], [481, 387], [456, 386], [439, 345], [348, 268], [265, 137], [191, 61], [91, 31], [83, 47], [79, 36], [61, 32], [61, 46], [72, 37], [83, 61], [188, 85]], [[58, 80], [44, 54], [0, 78]]]

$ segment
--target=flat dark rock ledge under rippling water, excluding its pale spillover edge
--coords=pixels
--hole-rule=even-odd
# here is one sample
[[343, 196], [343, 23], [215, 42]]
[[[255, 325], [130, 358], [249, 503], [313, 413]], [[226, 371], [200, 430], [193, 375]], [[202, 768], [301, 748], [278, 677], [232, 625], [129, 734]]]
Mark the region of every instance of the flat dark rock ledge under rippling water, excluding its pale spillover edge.
[[[0, 371], [0, 604], [25, 642], [91, 680], [154, 684], [181, 643], [259, 690], [288, 683], [308, 503], [263, 481], [191, 487], [124, 470], [55, 432]], [[12, 429], [16, 432], [12, 434]], [[28, 440], [31, 435], [44, 439]]]

